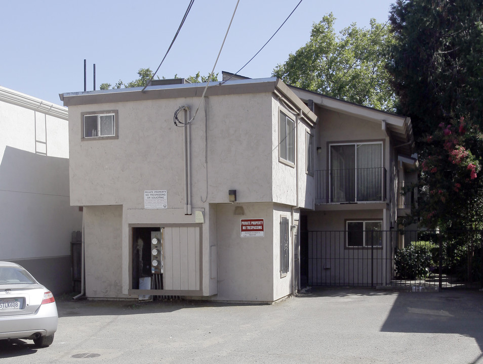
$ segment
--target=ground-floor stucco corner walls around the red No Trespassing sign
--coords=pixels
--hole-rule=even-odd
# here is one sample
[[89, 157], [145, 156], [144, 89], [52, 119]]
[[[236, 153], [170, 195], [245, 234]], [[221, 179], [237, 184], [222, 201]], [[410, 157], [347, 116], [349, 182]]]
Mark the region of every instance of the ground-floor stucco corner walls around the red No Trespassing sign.
[[[234, 214], [236, 206], [243, 208], [244, 215]], [[271, 203], [219, 204], [217, 212], [217, 299], [272, 302], [291, 294], [292, 238], [289, 273], [280, 276], [280, 216], [290, 221], [290, 207]], [[240, 220], [250, 218], [264, 219], [263, 237], [241, 237]]]

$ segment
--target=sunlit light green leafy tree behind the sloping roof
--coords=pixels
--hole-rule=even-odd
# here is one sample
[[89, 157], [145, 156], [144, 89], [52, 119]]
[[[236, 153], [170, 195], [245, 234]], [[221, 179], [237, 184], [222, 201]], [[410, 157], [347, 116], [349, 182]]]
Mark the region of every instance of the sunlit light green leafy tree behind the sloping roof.
[[284, 64], [278, 64], [272, 75], [320, 94], [394, 111], [394, 94], [385, 69], [392, 44], [389, 27], [371, 19], [370, 29], [353, 23], [337, 35], [335, 20], [330, 13], [314, 23], [310, 40]]

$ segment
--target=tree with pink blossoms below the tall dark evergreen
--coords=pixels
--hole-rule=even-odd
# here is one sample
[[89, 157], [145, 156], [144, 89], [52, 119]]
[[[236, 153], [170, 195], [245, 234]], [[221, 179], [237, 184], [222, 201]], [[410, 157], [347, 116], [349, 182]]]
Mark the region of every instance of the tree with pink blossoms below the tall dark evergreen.
[[483, 228], [483, 134], [461, 117], [426, 135], [418, 217], [427, 228]]

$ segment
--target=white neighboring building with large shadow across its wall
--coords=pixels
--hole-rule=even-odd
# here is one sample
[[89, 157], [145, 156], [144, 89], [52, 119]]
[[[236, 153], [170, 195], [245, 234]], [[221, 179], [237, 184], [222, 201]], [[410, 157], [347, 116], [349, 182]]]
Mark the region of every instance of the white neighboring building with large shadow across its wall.
[[72, 290], [67, 108], [0, 86], [0, 260], [54, 294]]

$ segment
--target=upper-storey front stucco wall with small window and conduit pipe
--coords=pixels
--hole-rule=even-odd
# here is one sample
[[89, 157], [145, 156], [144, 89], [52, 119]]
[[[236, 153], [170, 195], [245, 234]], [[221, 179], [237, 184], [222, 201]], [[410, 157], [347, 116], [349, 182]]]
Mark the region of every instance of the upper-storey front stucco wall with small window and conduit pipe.
[[[164, 99], [71, 106], [72, 204], [143, 208], [143, 191], [163, 189], [169, 208], [182, 206], [184, 129], [173, 124], [173, 114], [181, 105], [194, 109], [198, 103]], [[102, 110], [118, 111], [119, 139], [81, 142], [81, 112]], [[271, 95], [210, 97], [207, 115], [202, 106], [190, 130], [193, 201], [197, 206], [200, 199], [227, 202], [230, 189], [237, 190], [239, 202], [270, 201]]]

